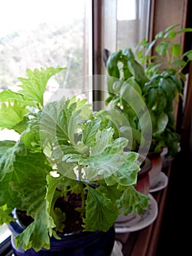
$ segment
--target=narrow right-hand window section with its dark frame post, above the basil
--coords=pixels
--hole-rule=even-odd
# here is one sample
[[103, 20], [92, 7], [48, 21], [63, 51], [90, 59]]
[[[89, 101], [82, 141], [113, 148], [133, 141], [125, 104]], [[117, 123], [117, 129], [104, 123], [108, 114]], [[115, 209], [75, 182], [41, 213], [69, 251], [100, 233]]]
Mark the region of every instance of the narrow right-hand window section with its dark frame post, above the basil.
[[[148, 39], [149, 18], [150, 0], [93, 1], [93, 75], [106, 75], [110, 53], [135, 48], [144, 37]], [[95, 80], [97, 110], [104, 106], [107, 89], [103, 78]]]

